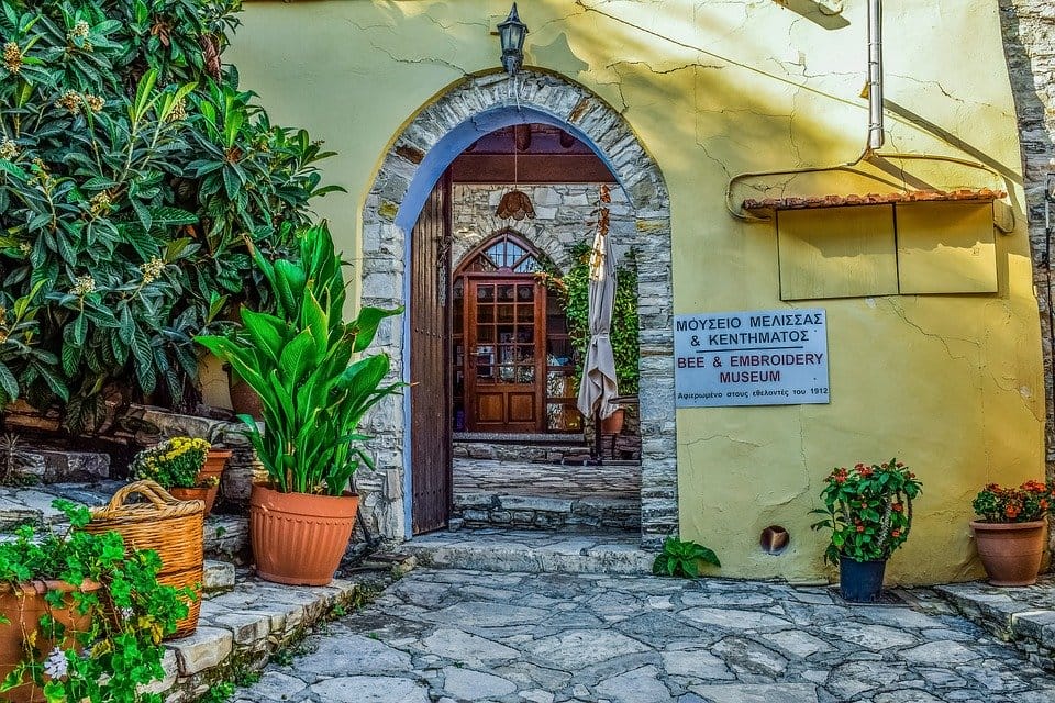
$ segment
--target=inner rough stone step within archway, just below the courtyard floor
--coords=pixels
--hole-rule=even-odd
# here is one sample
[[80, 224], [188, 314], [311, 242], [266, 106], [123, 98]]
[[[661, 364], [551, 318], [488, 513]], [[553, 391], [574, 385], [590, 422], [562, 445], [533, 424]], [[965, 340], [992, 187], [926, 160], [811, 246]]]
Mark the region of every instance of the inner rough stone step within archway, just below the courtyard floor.
[[555, 498], [455, 492], [455, 517], [467, 527], [521, 529], [641, 528], [638, 498]]

